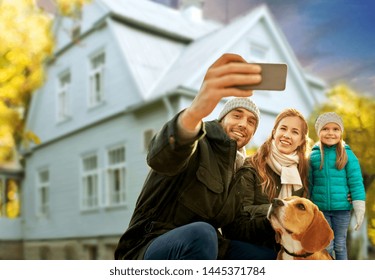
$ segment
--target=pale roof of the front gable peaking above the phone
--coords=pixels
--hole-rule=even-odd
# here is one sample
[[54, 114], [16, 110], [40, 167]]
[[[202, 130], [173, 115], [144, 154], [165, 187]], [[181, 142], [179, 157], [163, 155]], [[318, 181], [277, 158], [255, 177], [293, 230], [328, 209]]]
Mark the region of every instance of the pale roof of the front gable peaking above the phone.
[[266, 5], [261, 5], [223, 28], [217, 29], [207, 36], [192, 42], [181, 53], [164, 77], [149, 91], [147, 97], [155, 98], [158, 95], [168, 94], [177, 87], [198, 91], [204, 74], [214, 62], [214, 59], [228, 52], [228, 49], [235, 46], [261, 20], [271, 31], [269, 33], [273, 36], [277, 47], [283, 55], [283, 62], [288, 64], [289, 74], [298, 77], [296, 80], [299, 83], [301, 93], [303, 93], [301, 94], [302, 97], [308, 103], [314, 104], [316, 98], [310, 92], [308, 83], [319, 84], [320, 87], [324, 87], [324, 83], [318, 78], [313, 79], [311, 75], [305, 75], [304, 71], [302, 71], [302, 67], [299, 65], [292, 48], [277, 27]]

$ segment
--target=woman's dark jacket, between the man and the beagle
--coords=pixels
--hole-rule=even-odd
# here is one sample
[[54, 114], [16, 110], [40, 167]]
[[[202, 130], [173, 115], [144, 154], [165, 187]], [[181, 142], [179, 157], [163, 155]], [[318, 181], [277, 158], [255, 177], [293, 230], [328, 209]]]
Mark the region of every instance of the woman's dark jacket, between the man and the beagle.
[[[269, 166], [272, 180], [276, 183], [276, 197], [281, 190], [280, 176], [273, 172]], [[278, 250], [275, 241], [275, 232], [267, 219], [267, 212], [271, 205], [268, 196], [262, 192], [259, 176], [251, 164], [246, 161], [236, 176], [241, 178], [241, 185], [244, 186], [244, 198], [242, 211], [236, 220], [223, 228], [223, 234], [228, 239], [250, 241], [251, 243], [267, 246]], [[293, 192], [293, 195], [303, 196], [303, 188]]]

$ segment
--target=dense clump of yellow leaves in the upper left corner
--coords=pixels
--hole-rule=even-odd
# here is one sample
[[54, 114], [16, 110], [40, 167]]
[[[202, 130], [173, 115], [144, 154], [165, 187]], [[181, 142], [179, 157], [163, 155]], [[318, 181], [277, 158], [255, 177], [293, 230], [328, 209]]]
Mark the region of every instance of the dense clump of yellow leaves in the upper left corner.
[[42, 83], [40, 66], [53, 46], [52, 21], [34, 1], [0, 3], [0, 100], [24, 106], [29, 100], [27, 94]]

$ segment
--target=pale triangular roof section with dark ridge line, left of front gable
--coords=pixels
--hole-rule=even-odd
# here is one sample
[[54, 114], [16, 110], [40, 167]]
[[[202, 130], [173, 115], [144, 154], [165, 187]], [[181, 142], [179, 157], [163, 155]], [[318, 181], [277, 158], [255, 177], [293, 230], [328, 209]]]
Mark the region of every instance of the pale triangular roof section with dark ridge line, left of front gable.
[[[145, 0], [100, 0], [110, 29], [129, 66], [143, 100], [184, 52], [186, 46], [222, 27], [192, 20], [182, 11]], [[151, 93], [153, 94], [153, 93]]]

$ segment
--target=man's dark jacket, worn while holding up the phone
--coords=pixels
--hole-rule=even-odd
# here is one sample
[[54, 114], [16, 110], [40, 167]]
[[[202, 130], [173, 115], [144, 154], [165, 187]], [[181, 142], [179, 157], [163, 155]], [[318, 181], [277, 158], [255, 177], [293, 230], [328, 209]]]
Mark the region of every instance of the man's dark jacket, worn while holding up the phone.
[[[233, 174], [236, 142], [217, 121], [203, 124], [195, 141], [180, 143], [175, 116], [153, 138], [147, 163], [152, 168], [137, 200], [115, 259], [142, 259], [152, 239], [196, 221], [216, 229], [235, 220], [243, 198], [243, 180]], [[219, 258], [229, 240], [220, 232]]]

